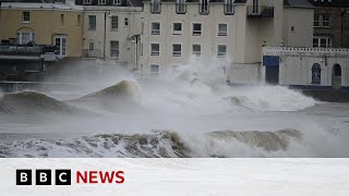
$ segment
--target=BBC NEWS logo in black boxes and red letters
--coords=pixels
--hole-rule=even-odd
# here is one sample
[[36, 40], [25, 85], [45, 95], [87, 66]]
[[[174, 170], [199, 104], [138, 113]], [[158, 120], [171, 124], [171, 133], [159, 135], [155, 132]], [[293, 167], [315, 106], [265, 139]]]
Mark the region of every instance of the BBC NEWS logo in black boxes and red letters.
[[[124, 182], [123, 171], [76, 171], [75, 179], [72, 170], [16, 170], [16, 185], [72, 185], [76, 184], [122, 184]], [[35, 182], [35, 183], [34, 183]]]

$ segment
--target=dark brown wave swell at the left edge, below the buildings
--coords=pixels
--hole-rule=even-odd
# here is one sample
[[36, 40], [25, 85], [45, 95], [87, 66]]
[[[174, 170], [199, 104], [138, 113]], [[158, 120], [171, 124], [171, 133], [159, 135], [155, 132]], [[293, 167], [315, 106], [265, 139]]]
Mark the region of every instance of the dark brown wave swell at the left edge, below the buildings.
[[76, 108], [36, 91], [22, 91], [5, 94], [0, 99], [2, 113], [65, 113], [73, 112]]

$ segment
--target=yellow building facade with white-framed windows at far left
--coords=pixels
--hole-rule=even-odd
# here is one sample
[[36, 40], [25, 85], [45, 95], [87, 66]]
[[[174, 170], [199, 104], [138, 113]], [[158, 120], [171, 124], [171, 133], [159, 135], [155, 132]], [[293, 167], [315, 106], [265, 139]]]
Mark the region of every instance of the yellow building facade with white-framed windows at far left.
[[83, 10], [64, 3], [3, 2], [0, 39], [55, 45], [60, 58], [82, 56]]

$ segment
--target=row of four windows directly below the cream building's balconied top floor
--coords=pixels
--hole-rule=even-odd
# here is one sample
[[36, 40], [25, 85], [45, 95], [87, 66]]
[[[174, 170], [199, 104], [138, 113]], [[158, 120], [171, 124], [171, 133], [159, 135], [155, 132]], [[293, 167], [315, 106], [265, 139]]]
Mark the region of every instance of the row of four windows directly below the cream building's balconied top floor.
[[[202, 35], [203, 25], [202, 23], [192, 23], [192, 35], [201, 36]], [[161, 27], [159, 22], [151, 23], [151, 35], [160, 35]], [[182, 23], [172, 23], [172, 35], [182, 35], [183, 34], [183, 25]], [[228, 25], [224, 23], [218, 24], [218, 36], [227, 36], [228, 35]]]

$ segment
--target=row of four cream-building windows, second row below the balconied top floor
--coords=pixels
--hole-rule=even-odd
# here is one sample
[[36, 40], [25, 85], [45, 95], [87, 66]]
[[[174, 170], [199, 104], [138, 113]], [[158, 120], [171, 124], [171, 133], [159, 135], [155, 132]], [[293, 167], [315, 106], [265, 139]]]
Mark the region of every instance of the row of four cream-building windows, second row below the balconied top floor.
[[[192, 54], [201, 56], [201, 45], [192, 45]], [[151, 56], [160, 56], [160, 44], [151, 44]], [[182, 45], [172, 44], [172, 57], [182, 57]], [[227, 57], [227, 45], [217, 45], [217, 57], [225, 58]]]

